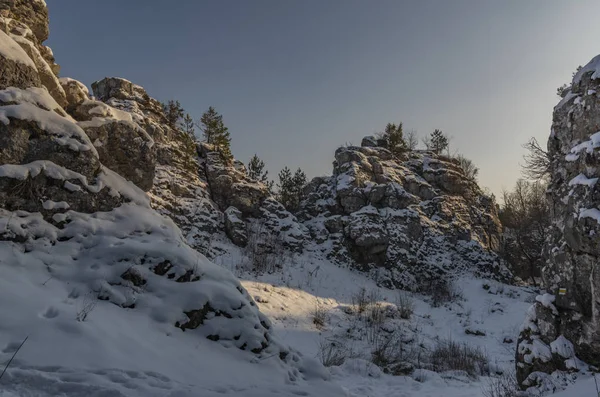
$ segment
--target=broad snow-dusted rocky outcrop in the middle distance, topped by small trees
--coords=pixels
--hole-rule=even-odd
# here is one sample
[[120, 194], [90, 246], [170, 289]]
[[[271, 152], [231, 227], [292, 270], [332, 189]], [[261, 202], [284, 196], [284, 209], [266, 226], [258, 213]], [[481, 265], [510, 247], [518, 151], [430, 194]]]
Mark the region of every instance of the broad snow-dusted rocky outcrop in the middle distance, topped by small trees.
[[333, 176], [306, 189], [298, 216], [324, 253], [414, 289], [467, 269], [510, 277], [496, 254], [495, 203], [456, 160], [421, 151], [394, 158], [377, 145], [366, 137], [339, 148]]

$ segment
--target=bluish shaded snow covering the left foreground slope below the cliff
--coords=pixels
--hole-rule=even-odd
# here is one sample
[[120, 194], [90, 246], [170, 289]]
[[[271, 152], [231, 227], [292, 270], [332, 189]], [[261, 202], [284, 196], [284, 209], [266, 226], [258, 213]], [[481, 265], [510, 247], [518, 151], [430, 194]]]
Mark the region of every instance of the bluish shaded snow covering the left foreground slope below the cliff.
[[[0, 210], [4, 235], [35, 236], [27, 252], [0, 241], [0, 361], [29, 337], [0, 396], [345, 395], [314, 359], [290, 351], [295, 361], [284, 364], [275, 337], [261, 355], [238, 349], [260, 347], [258, 322], [268, 320], [235, 277], [185, 244], [170, 219], [135, 204], [61, 215], [68, 222], [59, 229], [40, 214]], [[150, 262], [164, 259], [175, 278], [191, 270], [199, 280], [154, 275]], [[143, 288], [121, 279], [130, 269], [147, 280]], [[232, 317], [209, 316], [188, 332], [174, 326], [207, 301]], [[214, 333], [221, 340], [206, 338]]]

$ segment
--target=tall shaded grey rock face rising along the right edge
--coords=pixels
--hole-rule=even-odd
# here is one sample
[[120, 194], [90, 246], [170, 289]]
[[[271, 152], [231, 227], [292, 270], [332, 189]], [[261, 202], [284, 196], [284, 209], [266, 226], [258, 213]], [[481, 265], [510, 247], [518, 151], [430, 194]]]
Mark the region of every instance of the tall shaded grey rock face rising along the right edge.
[[[562, 336], [573, 344], [577, 357], [596, 366], [600, 365], [600, 274], [596, 270], [600, 258], [599, 72], [600, 57], [596, 57], [574, 76], [554, 108], [548, 139], [552, 226], [542, 274], [545, 288], [555, 296], [556, 310], [548, 321], [551, 326], [539, 330], [546, 346]], [[522, 339], [530, 338], [524, 333]], [[531, 379], [540, 373], [564, 369], [554, 361], [540, 368], [517, 358], [519, 382], [524, 387], [535, 383]]]

